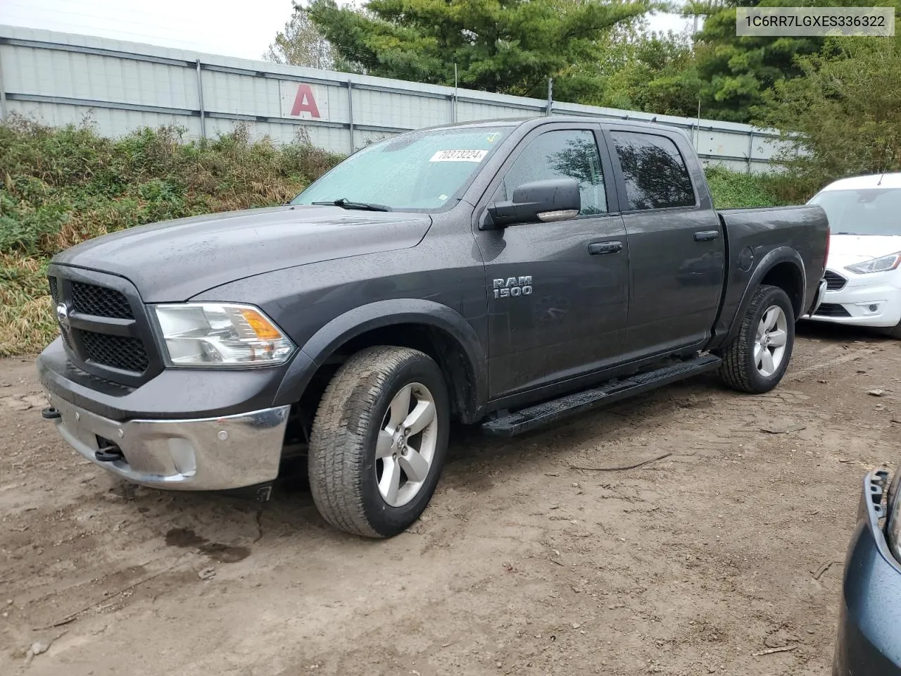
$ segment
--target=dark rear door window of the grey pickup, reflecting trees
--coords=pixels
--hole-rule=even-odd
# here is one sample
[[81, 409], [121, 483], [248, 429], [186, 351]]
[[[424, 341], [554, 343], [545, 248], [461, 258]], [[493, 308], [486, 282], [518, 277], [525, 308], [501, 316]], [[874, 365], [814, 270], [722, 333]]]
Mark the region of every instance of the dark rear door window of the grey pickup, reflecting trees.
[[630, 211], [695, 206], [695, 190], [674, 142], [650, 133], [611, 132]]

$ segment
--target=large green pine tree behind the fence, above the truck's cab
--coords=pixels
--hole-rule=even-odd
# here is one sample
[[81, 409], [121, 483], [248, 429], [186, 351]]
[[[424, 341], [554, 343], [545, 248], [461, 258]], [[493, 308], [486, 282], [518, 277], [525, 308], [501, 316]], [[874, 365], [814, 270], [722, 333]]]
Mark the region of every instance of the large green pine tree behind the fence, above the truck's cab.
[[600, 96], [596, 63], [608, 32], [651, 0], [314, 0], [310, 16], [348, 64], [369, 75], [543, 97]]

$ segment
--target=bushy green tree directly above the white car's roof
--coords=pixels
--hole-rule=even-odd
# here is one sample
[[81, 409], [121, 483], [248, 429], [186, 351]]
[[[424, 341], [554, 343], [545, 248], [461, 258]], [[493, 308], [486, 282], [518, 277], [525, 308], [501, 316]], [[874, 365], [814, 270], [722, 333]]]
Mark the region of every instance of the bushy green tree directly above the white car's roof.
[[844, 176], [901, 170], [901, 38], [827, 38], [803, 77], [776, 83], [759, 123], [805, 192]]

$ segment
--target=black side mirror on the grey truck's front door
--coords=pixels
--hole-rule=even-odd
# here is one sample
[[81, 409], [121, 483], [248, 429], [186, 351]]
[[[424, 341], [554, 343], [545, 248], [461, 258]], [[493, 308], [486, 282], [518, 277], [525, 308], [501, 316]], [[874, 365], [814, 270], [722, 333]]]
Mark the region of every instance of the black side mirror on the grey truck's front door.
[[523, 223], [551, 223], [578, 216], [582, 198], [575, 178], [551, 178], [523, 183], [513, 191], [513, 199], [488, 206], [490, 220], [482, 230]]

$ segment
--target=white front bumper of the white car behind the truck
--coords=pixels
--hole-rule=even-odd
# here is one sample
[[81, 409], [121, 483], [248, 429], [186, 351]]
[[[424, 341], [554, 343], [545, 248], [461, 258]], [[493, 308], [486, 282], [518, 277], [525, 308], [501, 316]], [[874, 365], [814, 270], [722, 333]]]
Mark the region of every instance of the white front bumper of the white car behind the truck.
[[[827, 290], [824, 305], [806, 318], [855, 326], [896, 326], [901, 322], [901, 288], [896, 286], [896, 275], [882, 275], [883, 279], [872, 280], [875, 284], [862, 285], [860, 279], [851, 279], [844, 288]], [[826, 308], [831, 314], [824, 314]]]

